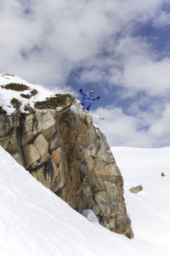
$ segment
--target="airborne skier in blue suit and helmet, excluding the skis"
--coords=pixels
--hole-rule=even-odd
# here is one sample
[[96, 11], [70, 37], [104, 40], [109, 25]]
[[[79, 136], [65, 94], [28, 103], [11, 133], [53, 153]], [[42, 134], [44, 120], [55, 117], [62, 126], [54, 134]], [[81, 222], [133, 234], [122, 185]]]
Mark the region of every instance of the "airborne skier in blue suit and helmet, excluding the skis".
[[95, 94], [95, 90], [90, 90], [89, 92], [83, 92], [83, 90], [80, 89], [79, 92], [83, 95], [83, 98], [81, 100], [83, 111], [89, 112], [89, 110], [91, 109], [91, 106], [93, 105], [93, 102], [95, 100], [99, 100], [100, 97], [93, 96]]

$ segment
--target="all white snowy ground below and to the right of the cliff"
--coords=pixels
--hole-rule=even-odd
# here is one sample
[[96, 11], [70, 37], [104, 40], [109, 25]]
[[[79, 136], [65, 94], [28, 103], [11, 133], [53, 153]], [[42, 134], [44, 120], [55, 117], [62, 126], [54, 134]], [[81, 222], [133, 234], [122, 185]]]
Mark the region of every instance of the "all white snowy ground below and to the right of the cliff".
[[[134, 239], [89, 222], [0, 148], [0, 255], [168, 256], [170, 148], [112, 151], [124, 176]], [[143, 191], [130, 193], [136, 185]]]

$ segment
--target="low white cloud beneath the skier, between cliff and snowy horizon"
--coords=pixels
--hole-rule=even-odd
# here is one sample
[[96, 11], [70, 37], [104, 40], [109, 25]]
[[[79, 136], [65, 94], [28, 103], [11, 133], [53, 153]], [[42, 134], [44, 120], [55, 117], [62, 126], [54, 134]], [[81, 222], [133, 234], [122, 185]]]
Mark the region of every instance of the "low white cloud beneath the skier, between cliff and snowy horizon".
[[142, 120], [128, 116], [120, 108], [98, 108], [97, 114], [105, 120], [95, 123], [105, 134], [110, 146], [152, 147], [153, 138], [140, 129]]

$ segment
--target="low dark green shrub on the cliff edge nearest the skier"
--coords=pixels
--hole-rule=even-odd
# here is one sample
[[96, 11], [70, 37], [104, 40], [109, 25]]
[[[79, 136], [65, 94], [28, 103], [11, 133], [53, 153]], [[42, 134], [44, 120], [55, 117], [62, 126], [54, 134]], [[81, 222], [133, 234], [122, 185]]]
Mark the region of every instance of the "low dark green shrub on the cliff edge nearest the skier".
[[37, 101], [34, 105], [35, 108], [56, 108], [57, 106], [67, 105], [73, 102], [74, 98], [71, 94], [55, 94], [55, 96], [46, 98], [43, 101]]

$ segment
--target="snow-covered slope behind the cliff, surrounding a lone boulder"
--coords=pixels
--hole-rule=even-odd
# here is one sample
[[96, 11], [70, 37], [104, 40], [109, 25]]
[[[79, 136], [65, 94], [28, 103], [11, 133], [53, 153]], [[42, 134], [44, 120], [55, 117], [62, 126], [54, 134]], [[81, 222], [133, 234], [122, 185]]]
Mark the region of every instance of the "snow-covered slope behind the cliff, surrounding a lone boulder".
[[[124, 177], [126, 207], [141, 255], [170, 255], [170, 147], [115, 147], [112, 152]], [[128, 191], [137, 185], [143, 191]]]

